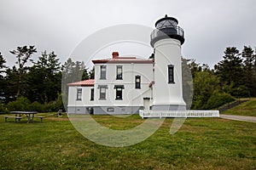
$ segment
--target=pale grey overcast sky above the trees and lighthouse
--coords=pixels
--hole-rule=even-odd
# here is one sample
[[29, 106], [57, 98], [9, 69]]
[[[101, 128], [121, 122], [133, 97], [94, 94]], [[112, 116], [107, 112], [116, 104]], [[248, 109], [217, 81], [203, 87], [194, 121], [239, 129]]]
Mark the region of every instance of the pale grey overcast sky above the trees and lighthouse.
[[[10, 66], [15, 56], [9, 50], [35, 45], [34, 59], [44, 50], [55, 51], [63, 63], [96, 31], [120, 24], [153, 28], [165, 14], [185, 31], [183, 56], [201, 64], [217, 64], [230, 46], [256, 46], [256, 0], [0, 0], [0, 52]], [[152, 51], [142, 48], [140, 55]]]

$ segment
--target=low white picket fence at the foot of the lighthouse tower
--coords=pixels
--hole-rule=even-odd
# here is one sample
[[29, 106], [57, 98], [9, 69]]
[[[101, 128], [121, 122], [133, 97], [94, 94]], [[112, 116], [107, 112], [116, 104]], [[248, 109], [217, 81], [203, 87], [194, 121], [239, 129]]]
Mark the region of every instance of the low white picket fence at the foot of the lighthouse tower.
[[140, 110], [141, 117], [219, 117], [219, 111], [144, 111]]

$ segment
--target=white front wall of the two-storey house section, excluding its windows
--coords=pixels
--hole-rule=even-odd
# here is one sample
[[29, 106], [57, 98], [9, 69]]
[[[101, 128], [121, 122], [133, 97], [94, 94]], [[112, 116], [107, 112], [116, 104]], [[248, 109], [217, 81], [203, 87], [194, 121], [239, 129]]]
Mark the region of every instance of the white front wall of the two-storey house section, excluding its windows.
[[[106, 80], [100, 80], [102, 64], [95, 65], [95, 106], [143, 106], [143, 97], [151, 97], [148, 84], [153, 81], [153, 64], [107, 64]], [[123, 66], [123, 80], [116, 80], [116, 65]], [[135, 88], [135, 77], [141, 76], [141, 88]], [[98, 85], [108, 85], [106, 100], [99, 100]], [[124, 85], [123, 99], [116, 100], [115, 85]]]

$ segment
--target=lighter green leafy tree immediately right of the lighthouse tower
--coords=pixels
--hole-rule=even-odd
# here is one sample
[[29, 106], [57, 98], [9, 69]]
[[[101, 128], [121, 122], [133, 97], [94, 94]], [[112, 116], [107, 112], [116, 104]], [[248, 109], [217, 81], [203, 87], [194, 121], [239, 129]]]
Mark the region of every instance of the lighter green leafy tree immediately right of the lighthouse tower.
[[[186, 101], [192, 96], [192, 109], [207, 109], [208, 99], [210, 99], [213, 94], [218, 94], [221, 91], [219, 77], [214, 74], [214, 71], [211, 71], [209, 65], [198, 64], [195, 62], [195, 59], [183, 59], [182, 65], [184, 100]], [[186, 67], [188, 67], [190, 71], [186, 69]], [[193, 83], [191, 83], [192, 81]], [[191, 88], [193, 92], [190, 90]], [[191, 95], [189, 96], [189, 94]]]

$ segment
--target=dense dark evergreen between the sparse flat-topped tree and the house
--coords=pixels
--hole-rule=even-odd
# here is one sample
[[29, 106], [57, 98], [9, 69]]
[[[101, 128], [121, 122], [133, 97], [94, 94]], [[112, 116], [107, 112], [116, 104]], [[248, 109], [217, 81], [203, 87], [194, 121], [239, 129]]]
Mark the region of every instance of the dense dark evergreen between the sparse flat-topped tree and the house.
[[61, 94], [61, 63], [54, 52], [44, 51], [27, 74], [26, 97], [40, 103], [48, 103]]

